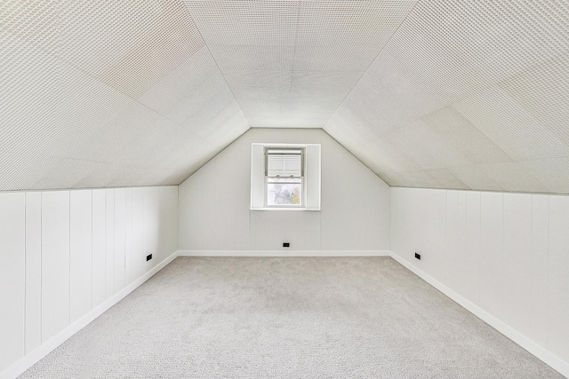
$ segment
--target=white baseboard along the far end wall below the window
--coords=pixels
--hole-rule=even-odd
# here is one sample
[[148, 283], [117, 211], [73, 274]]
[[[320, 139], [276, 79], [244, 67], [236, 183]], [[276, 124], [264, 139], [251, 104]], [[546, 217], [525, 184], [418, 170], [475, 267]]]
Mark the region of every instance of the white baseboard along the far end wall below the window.
[[179, 257], [389, 257], [389, 250], [178, 250]]

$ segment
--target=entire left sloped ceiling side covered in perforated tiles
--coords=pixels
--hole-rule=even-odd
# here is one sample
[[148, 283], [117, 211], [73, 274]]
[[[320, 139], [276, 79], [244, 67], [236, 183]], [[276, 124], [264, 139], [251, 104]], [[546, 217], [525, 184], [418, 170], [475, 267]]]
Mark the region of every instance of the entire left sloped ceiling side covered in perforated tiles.
[[180, 184], [249, 129], [172, 1], [0, 4], [0, 190]]

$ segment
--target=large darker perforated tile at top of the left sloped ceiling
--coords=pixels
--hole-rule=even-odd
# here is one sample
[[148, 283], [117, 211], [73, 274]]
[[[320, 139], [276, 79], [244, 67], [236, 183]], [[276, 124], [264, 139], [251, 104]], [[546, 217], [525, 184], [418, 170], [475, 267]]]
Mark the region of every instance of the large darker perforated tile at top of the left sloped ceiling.
[[133, 99], [204, 47], [179, 2], [62, 1], [60, 59]]

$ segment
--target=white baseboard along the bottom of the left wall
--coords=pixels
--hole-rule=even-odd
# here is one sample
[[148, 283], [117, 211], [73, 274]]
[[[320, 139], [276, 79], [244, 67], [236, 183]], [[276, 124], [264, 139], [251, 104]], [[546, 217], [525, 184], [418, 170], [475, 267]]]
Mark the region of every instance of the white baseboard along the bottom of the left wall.
[[79, 320], [76, 320], [73, 324], [69, 325], [68, 328], [63, 329], [56, 336], [53, 336], [47, 342], [42, 343], [37, 349], [31, 351], [24, 358], [20, 359], [14, 363], [11, 367], [6, 368], [2, 373], [0, 373], [0, 378], [15, 378], [21, 375], [29, 367], [35, 365], [40, 359], [44, 358], [47, 354], [52, 352], [61, 343], [67, 341], [71, 336], [75, 335], [79, 330], [83, 329], [89, 325], [92, 320], [98, 318], [102, 313], [106, 312], [110, 307], [121, 301], [125, 296], [130, 294], [134, 289], [139, 288], [142, 283], [152, 278], [162, 270], [166, 265], [170, 264], [176, 257], [178, 253], [173, 253], [170, 257], [164, 259], [154, 268], [145, 272], [139, 279], [132, 281], [131, 284], [121, 289], [115, 295], [109, 297], [104, 303], [100, 304], [94, 308], [91, 312], [85, 314]]

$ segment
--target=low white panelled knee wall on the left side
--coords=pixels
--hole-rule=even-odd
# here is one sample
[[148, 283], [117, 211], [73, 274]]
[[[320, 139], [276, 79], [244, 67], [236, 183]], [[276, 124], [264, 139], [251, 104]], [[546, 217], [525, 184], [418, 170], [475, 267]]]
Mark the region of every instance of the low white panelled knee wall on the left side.
[[0, 193], [0, 373], [170, 257], [177, 233], [177, 186]]

